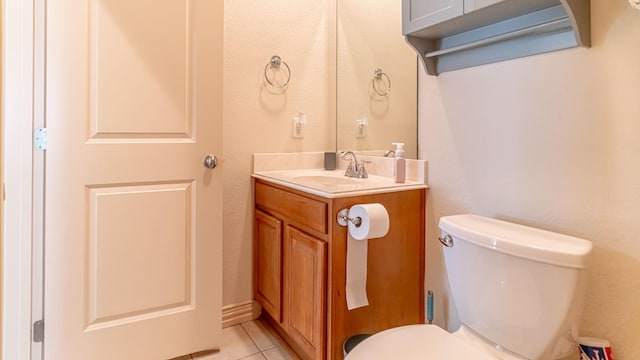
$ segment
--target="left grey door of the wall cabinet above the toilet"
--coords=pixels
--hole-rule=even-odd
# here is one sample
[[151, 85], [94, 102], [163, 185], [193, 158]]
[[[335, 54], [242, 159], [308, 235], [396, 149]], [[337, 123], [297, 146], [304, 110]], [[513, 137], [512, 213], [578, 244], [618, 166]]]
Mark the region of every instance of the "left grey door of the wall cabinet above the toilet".
[[461, 16], [463, 11], [463, 0], [402, 0], [402, 33]]

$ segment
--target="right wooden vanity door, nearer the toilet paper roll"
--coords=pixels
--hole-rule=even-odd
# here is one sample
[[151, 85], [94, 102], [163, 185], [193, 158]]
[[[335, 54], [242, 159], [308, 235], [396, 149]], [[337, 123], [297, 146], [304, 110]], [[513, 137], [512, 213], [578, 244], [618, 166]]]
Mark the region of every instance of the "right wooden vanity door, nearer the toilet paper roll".
[[327, 243], [291, 226], [284, 249], [285, 328], [306, 359], [325, 359]]

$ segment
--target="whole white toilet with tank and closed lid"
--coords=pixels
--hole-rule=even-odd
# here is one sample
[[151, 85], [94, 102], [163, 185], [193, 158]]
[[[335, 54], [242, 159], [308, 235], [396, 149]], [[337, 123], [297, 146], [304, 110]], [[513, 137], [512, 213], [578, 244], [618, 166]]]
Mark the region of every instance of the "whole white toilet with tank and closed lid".
[[440, 219], [462, 326], [385, 330], [346, 360], [554, 360], [576, 349], [591, 242], [476, 215]]

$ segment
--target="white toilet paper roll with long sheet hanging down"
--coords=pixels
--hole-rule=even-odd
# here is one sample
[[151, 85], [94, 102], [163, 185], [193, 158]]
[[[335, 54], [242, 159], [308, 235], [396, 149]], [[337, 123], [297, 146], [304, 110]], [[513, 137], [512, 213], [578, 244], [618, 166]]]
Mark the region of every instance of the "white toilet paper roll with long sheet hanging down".
[[389, 232], [389, 213], [382, 204], [354, 205], [349, 218], [360, 218], [360, 225], [349, 222], [347, 233], [347, 309], [369, 305], [367, 298], [367, 253], [369, 239]]

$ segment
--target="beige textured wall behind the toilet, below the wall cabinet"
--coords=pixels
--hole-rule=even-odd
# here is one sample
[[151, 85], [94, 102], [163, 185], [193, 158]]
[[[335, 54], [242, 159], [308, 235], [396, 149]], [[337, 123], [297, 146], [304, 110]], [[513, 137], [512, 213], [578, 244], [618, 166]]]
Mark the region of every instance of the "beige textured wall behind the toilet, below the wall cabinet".
[[[640, 11], [592, 0], [591, 49], [428, 77], [420, 158], [429, 162], [427, 287], [448, 304], [440, 216], [476, 213], [583, 237], [595, 256], [582, 335], [640, 359]], [[451, 309], [451, 314], [447, 313]]]

